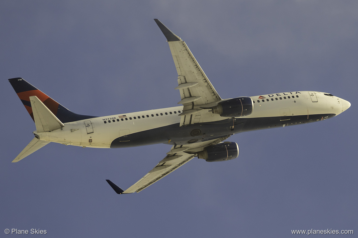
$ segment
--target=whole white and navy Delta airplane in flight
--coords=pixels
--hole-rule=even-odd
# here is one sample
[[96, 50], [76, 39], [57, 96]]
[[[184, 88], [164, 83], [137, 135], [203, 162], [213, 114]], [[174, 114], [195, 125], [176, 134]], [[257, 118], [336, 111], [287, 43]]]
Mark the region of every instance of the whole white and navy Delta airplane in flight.
[[238, 157], [231, 135], [324, 121], [350, 103], [330, 93], [292, 91], [222, 99], [187, 44], [158, 19], [178, 72], [180, 106], [110, 116], [69, 111], [22, 78], [9, 79], [35, 122], [33, 140], [12, 161], [18, 162], [50, 142], [92, 148], [124, 148], [164, 143], [166, 156], [126, 190], [106, 179], [118, 194], [140, 192], [194, 157], [208, 162]]

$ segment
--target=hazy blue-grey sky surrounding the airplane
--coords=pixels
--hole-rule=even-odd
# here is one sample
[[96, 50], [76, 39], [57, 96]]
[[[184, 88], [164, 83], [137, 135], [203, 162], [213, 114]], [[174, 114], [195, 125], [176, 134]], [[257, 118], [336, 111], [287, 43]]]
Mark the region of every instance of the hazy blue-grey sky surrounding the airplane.
[[[137, 194], [117, 195], [105, 179], [128, 188], [170, 146], [50, 143], [11, 163], [35, 125], [10, 78], [84, 115], [176, 105], [175, 66], [153, 18], [187, 42], [222, 98], [310, 90], [352, 106], [323, 122], [234, 135], [237, 159], [194, 158]], [[1, 237], [6, 228], [47, 237], [358, 233], [357, 43], [355, 0], [1, 0]]]

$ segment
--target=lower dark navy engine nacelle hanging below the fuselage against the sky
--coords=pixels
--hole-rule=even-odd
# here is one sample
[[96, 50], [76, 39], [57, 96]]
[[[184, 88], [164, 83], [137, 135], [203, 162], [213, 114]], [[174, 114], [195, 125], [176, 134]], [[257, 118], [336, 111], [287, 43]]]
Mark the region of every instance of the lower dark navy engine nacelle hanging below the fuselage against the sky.
[[199, 159], [207, 162], [227, 161], [239, 156], [239, 146], [235, 142], [224, 142], [217, 145], [205, 147], [198, 152]]

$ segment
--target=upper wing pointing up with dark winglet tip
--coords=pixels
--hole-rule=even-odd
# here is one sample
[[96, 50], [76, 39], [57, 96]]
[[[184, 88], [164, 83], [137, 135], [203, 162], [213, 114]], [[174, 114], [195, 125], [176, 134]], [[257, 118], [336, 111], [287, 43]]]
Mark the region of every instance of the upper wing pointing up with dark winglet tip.
[[221, 100], [215, 88], [205, 75], [198, 61], [189, 50], [187, 44], [168, 29], [161, 21], [154, 19], [168, 40], [176, 71], [178, 72], [178, 89], [180, 91], [183, 112], [180, 113], [180, 126], [197, 123], [203, 120], [208, 110], [201, 107]]

